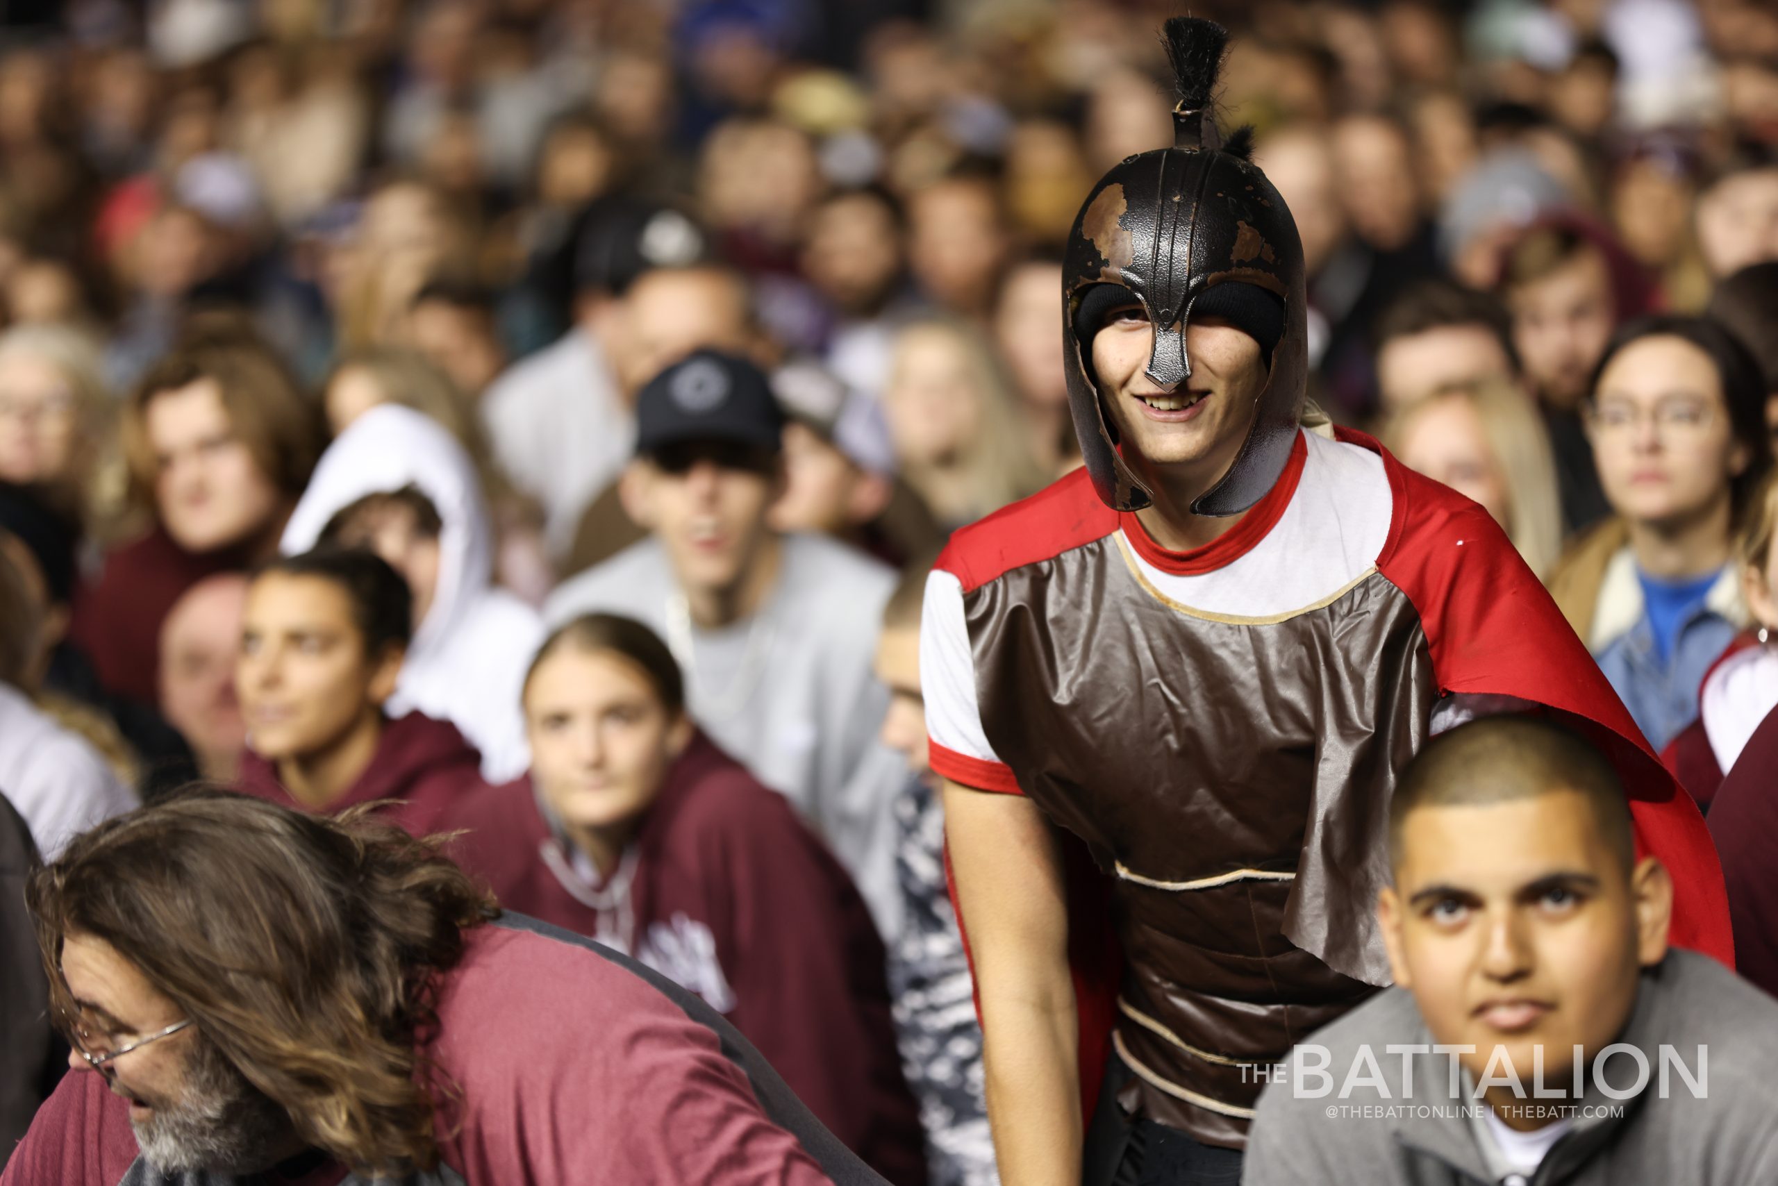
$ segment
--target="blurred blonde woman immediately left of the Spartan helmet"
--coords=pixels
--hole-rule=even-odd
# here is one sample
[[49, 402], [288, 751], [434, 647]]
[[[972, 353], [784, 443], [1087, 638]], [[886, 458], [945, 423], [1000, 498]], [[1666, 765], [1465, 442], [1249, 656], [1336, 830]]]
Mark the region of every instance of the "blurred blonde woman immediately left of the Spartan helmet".
[[981, 334], [962, 322], [901, 327], [882, 404], [901, 477], [946, 532], [1035, 493], [1049, 477], [1017, 421], [1012, 384]]

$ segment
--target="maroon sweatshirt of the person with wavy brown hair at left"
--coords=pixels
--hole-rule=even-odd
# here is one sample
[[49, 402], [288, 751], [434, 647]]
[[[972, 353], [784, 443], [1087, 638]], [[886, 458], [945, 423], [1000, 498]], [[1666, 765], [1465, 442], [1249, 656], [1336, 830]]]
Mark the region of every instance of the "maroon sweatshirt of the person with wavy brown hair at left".
[[160, 624], [185, 590], [244, 567], [233, 553], [192, 555], [162, 528], [105, 557], [100, 578], [75, 594], [69, 635], [116, 695], [160, 702]]

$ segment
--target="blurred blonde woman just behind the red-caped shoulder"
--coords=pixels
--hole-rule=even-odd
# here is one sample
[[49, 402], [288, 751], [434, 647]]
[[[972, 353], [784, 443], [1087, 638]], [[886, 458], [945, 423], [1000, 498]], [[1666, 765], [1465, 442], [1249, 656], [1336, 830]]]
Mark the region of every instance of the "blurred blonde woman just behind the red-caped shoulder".
[[1556, 455], [1531, 398], [1506, 379], [1433, 391], [1383, 427], [1410, 469], [1474, 498], [1540, 578], [1561, 557]]

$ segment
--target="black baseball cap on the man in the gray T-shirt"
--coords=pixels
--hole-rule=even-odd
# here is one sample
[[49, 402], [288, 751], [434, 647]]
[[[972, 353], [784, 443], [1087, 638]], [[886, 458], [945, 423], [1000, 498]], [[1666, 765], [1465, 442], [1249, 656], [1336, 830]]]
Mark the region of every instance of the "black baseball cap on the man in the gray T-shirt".
[[777, 457], [784, 413], [754, 363], [722, 350], [695, 350], [644, 384], [637, 397], [637, 455], [658, 457], [683, 445], [740, 446]]

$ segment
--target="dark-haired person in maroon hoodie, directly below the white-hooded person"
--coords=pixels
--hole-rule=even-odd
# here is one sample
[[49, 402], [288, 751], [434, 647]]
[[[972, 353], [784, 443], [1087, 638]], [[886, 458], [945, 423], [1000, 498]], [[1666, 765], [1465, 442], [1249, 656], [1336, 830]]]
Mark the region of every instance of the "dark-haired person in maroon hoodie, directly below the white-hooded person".
[[384, 715], [411, 613], [407, 581], [372, 551], [320, 549], [260, 569], [235, 667], [242, 791], [329, 814], [398, 800], [388, 818], [418, 836], [480, 786], [480, 759], [455, 725]]

